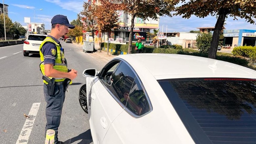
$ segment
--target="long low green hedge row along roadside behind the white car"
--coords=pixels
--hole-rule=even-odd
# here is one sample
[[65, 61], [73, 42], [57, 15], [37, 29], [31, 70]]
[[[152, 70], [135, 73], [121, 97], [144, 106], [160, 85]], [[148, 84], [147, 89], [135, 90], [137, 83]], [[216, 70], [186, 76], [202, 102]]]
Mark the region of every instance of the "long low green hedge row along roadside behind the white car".
[[[107, 47], [107, 43], [102, 43], [101, 47]], [[162, 47], [162, 48], [161, 48]], [[142, 53], [169, 53], [169, 54], [181, 54], [181, 55], [192, 55], [199, 57], [208, 57], [208, 54], [200, 53], [198, 50], [194, 49], [181, 49], [181, 45], [162, 45], [160, 48], [154, 48], [153, 46], [144, 46]], [[122, 52], [128, 52], [128, 44], [109, 44], [110, 49], [115, 49]], [[132, 44], [132, 53], [136, 53], [135, 43]], [[114, 55], [117, 54], [114, 53]], [[232, 55], [233, 54], [233, 55]], [[251, 69], [256, 70], [254, 63], [251, 63], [248, 58], [256, 58], [256, 47], [243, 46], [236, 47], [231, 53], [217, 52], [216, 60], [221, 60], [229, 63], [235, 63], [242, 65]], [[234, 56], [235, 55], [235, 56]], [[255, 59], [254, 59], [255, 60]]]

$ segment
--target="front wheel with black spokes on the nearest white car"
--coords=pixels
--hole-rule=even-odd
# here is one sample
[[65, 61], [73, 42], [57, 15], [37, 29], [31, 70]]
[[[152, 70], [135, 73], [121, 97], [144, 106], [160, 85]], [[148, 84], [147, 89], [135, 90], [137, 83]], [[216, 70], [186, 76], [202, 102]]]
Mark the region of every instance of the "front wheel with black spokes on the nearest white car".
[[79, 103], [84, 112], [88, 114], [86, 84], [82, 85], [79, 90]]

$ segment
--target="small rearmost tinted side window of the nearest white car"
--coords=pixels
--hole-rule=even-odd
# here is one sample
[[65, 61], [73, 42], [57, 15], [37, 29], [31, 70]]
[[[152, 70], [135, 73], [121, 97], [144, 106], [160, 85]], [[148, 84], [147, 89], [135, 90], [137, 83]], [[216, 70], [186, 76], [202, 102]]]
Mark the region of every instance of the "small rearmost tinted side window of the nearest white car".
[[135, 81], [133, 82], [126, 107], [138, 116], [141, 116], [150, 110], [145, 93], [137, 78], [135, 78]]

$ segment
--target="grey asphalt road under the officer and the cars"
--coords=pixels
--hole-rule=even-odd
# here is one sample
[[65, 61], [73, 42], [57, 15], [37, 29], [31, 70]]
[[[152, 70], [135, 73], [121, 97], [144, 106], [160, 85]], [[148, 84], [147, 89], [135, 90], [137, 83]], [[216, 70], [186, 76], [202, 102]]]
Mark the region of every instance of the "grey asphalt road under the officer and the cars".
[[[66, 93], [58, 138], [65, 144], [91, 144], [89, 121], [79, 105], [78, 91], [85, 83], [83, 70], [100, 70], [108, 60], [83, 53], [76, 44], [61, 44], [68, 68], [76, 69], [78, 76]], [[24, 57], [22, 50], [23, 45], [0, 47], [0, 144], [42, 144], [45, 140], [46, 103], [40, 56]]]

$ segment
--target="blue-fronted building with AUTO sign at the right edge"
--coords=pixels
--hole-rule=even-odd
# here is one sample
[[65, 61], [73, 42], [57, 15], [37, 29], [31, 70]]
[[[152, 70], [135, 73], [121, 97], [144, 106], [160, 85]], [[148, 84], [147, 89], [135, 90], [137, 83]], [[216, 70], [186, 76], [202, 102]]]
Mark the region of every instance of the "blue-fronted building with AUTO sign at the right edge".
[[234, 48], [236, 46], [255, 46], [256, 45], [256, 30], [248, 29], [233, 29], [224, 30], [223, 46]]

